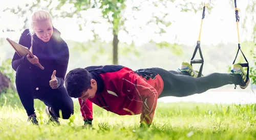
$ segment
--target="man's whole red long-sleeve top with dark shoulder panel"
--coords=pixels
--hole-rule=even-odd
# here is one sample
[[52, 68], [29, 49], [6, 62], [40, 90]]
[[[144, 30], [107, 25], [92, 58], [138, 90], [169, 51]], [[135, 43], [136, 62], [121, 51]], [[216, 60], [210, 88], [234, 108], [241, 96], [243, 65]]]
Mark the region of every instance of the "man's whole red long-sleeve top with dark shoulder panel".
[[118, 115], [141, 114], [141, 123], [151, 124], [158, 96], [163, 90], [159, 74], [140, 74], [119, 66], [92, 66], [86, 68], [97, 81], [94, 98], [79, 100], [83, 119], [93, 120], [92, 103]]

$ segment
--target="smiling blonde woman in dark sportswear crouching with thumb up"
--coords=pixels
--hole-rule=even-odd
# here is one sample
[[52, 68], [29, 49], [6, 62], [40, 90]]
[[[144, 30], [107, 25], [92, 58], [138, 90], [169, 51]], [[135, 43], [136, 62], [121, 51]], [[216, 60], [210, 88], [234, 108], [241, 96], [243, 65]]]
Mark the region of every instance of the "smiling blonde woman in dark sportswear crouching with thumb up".
[[[28, 121], [38, 125], [34, 110], [34, 99], [43, 101], [46, 113], [52, 122], [58, 118], [69, 119], [74, 113], [74, 104], [63, 86], [69, 62], [69, 48], [52, 25], [52, 16], [44, 10], [32, 14], [31, 27], [26, 29], [19, 44], [28, 47], [34, 58], [22, 58], [15, 52], [12, 68], [16, 71], [16, 88]], [[40, 63], [42, 70], [34, 64]], [[61, 114], [59, 114], [61, 110]]]

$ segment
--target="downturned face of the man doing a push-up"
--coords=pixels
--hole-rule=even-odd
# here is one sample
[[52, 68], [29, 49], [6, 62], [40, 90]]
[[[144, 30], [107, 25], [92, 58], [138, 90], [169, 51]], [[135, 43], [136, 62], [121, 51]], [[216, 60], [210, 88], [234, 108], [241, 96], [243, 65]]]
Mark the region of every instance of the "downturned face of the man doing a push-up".
[[94, 79], [91, 79], [91, 89], [85, 90], [82, 92], [82, 95], [79, 97], [83, 101], [86, 101], [88, 98], [94, 98], [97, 91], [97, 82]]

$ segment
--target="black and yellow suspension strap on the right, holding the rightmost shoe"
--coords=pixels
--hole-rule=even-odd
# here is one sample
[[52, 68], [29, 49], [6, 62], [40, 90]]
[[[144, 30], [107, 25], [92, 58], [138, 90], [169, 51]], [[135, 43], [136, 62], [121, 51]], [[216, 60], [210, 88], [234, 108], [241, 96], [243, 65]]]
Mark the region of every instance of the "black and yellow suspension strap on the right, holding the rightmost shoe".
[[242, 52], [242, 54], [243, 54], [243, 57], [244, 57], [245, 61], [247, 62], [247, 63], [240, 63], [240, 64], [239, 64], [239, 65], [241, 65], [242, 67], [247, 67], [247, 74], [246, 74], [246, 82], [247, 82], [248, 79], [249, 79], [249, 63], [248, 63], [248, 61], [247, 61], [247, 59], [246, 59], [246, 57], [245, 57], [245, 55], [244, 55], [244, 53], [243, 53], [243, 51], [242, 51], [242, 49], [241, 49], [240, 37], [239, 37], [239, 21], [240, 21], [240, 17], [239, 17], [239, 15], [238, 15], [238, 12], [239, 12], [240, 10], [237, 8], [237, 1], [236, 1], [236, 0], [234, 0], [234, 10], [235, 10], [235, 12], [236, 12], [236, 22], [237, 22], [238, 51], [237, 51], [236, 57], [234, 58], [233, 64], [236, 62], [236, 59], [237, 59], [237, 57], [238, 57], [238, 52], [239, 52], [239, 50], [240, 50], [240, 51]]

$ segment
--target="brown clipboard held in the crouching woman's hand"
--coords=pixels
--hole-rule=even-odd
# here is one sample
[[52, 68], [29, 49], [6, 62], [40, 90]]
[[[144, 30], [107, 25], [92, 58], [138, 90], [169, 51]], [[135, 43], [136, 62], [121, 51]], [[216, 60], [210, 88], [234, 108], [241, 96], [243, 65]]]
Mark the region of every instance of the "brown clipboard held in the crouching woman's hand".
[[[29, 54], [30, 58], [34, 58], [34, 55], [32, 54], [32, 52], [25, 46], [20, 45], [18, 43], [16, 43], [15, 41], [6, 38], [6, 40], [11, 44], [11, 46], [14, 48], [14, 50], [16, 51], [16, 53], [19, 55], [19, 57], [23, 57], [27, 54]], [[44, 70], [45, 68], [42, 67], [42, 65], [38, 62], [37, 64], [34, 64], [35, 66], [39, 67], [41, 70]]]

